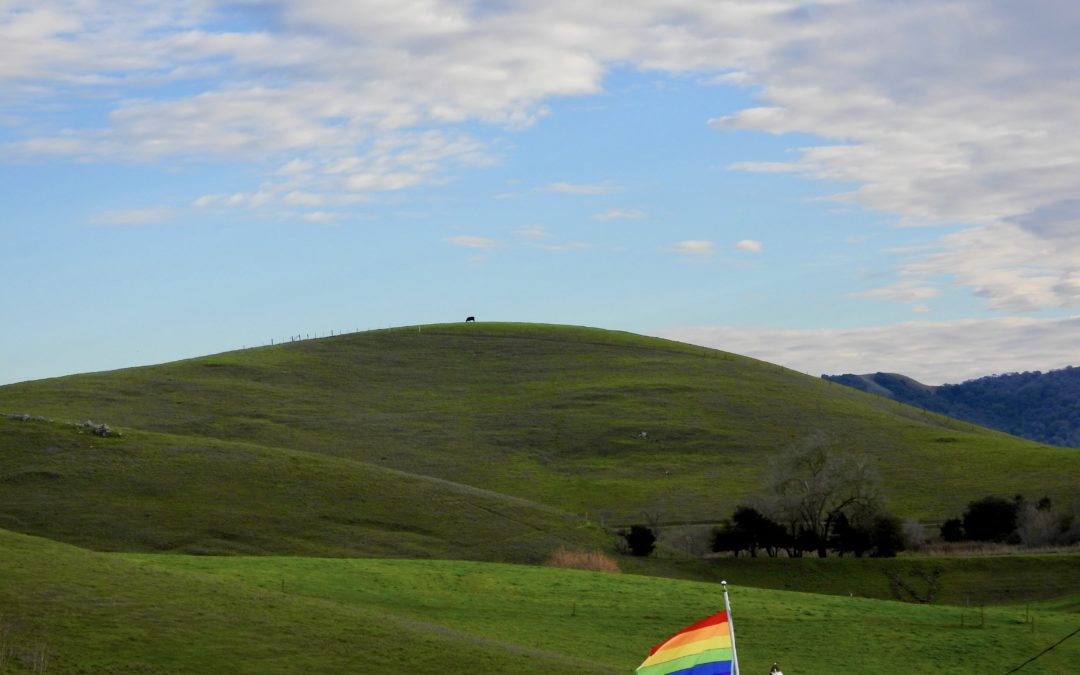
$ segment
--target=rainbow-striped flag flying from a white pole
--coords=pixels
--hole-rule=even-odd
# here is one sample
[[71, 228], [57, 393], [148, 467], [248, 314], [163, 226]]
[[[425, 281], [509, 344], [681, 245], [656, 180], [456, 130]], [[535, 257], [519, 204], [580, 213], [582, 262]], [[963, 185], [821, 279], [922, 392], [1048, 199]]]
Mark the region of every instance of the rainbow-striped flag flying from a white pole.
[[730, 675], [732, 652], [731, 624], [721, 611], [653, 647], [637, 675]]

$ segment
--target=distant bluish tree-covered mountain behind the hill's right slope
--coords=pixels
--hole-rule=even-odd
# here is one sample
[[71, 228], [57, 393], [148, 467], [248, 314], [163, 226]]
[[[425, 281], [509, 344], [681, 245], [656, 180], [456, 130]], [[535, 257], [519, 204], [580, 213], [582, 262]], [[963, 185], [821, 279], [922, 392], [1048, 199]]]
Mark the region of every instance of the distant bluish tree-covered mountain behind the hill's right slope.
[[991, 375], [941, 387], [894, 373], [822, 378], [1031, 441], [1080, 447], [1080, 367]]

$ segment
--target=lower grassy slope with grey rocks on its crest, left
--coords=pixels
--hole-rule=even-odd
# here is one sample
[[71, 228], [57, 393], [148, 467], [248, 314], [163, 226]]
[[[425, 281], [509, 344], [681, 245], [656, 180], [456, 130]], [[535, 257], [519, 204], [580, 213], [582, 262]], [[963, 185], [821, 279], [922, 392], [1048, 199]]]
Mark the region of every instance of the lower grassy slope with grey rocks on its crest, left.
[[0, 419], [0, 526], [105, 551], [542, 562], [608, 539], [524, 499], [233, 441]]

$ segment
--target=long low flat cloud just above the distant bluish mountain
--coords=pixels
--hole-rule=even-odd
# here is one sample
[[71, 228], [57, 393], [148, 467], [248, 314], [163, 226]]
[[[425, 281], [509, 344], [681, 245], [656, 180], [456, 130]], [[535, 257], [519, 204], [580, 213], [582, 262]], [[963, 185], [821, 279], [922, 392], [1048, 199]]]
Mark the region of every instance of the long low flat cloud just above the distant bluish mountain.
[[926, 384], [1080, 365], [1080, 316], [912, 321], [861, 328], [676, 326], [660, 336], [818, 376], [901, 373]]

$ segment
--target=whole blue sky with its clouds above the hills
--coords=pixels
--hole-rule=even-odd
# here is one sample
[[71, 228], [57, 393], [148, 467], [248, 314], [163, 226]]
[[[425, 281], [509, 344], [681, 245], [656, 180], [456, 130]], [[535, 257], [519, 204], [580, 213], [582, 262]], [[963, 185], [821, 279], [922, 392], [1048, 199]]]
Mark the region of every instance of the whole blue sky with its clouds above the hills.
[[1068, 2], [0, 0], [0, 383], [293, 335], [1077, 364]]

